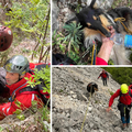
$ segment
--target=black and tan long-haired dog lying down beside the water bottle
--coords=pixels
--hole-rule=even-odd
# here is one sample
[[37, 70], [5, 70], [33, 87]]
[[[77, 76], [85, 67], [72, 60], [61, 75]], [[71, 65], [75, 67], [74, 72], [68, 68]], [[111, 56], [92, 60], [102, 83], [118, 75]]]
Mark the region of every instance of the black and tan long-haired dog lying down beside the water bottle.
[[[108, 26], [112, 25], [118, 33], [129, 34], [121, 24], [118, 18], [124, 19], [123, 24], [132, 31], [132, 10], [129, 8], [116, 8], [108, 12], [96, 7], [96, 0], [92, 0], [90, 6], [82, 9], [75, 18], [69, 20], [80, 23], [84, 30], [84, 44], [86, 48], [92, 45], [92, 41], [101, 42], [101, 36], [110, 37]], [[130, 55], [130, 50], [121, 45], [113, 45], [110, 58], [116, 65], [130, 65], [127, 56]]]

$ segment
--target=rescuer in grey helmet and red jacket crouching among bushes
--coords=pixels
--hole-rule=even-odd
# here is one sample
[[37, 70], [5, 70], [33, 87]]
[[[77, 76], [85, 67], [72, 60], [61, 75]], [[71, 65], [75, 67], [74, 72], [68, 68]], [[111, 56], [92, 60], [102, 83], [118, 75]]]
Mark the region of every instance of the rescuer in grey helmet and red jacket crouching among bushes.
[[[13, 114], [16, 109], [25, 110], [30, 108], [33, 100], [37, 101], [37, 107], [43, 106], [42, 99], [38, 97], [38, 91], [26, 91], [26, 89], [24, 89], [29, 87], [28, 80], [24, 77], [32, 77], [29, 69], [34, 69], [35, 66], [35, 64], [29, 64], [28, 58], [22, 55], [13, 56], [4, 64], [4, 69], [7, 70], [7, 87], [9, 88], [11, 97], [9, 102], [0, 105], [1, 120], [9, 114]], [[43, 94], [46, 95], [46, 98], [50, 98], [47, 92]], [[16, 102], [19, 102], [20, 106], [18, 106]]]

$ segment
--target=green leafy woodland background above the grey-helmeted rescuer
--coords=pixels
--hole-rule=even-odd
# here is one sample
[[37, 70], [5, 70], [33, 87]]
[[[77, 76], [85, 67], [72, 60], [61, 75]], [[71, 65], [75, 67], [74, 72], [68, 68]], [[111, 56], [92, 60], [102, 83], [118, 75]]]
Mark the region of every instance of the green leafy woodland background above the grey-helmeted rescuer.
[[[12, 0], [0, 3], [0, 24], [13, 32], [11, 47], [0, 53], [0, 65], [11, 57], [11, 51], [21, 47], [14, 54], [31, 56], [29, 59], [50, 63], [51, 3], [50, 0]], [[26, 43], [22, 48], [21, 43]], [[32, 43], [33, 42], [33, 45]], [[31, 50], [32, 47], [32, 50]], [[7, 53], [7, 54], [6, 54]]]

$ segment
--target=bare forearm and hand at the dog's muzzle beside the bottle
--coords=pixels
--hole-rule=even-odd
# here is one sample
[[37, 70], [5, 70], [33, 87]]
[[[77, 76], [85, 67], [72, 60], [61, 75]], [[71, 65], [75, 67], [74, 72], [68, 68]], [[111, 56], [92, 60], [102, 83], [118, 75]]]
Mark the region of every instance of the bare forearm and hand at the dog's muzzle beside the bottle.
[[[114, 35], [114, 29], [112, 26], [109, 26], [109, 30], [111, 33], [110, 37], [112, 37]], [[101, 48], [97, 55], [98, 57], [105, 59], [107, 63], [109, 61], [109, 56], [110, 56], [112, 46], [114, 44], [113, 41], [110, 40], [110, 37], [102, 36], [102, 45], [101, 45]]]

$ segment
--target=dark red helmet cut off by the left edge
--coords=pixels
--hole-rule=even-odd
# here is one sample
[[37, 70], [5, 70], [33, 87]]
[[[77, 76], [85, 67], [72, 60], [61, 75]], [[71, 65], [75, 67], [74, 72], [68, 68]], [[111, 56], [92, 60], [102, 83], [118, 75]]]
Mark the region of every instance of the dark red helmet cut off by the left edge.
[[9, 28], [0, 25], [0, 52], [8, 50], [11, 46], [13, 33]]

